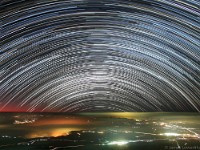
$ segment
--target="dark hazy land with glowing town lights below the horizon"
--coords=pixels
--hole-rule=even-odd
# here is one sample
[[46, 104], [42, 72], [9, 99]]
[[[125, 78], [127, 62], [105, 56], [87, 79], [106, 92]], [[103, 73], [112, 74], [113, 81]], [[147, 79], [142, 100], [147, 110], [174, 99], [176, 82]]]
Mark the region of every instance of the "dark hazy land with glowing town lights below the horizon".
[[198, 113], [1, 113], [0, 150], [199, 150]]

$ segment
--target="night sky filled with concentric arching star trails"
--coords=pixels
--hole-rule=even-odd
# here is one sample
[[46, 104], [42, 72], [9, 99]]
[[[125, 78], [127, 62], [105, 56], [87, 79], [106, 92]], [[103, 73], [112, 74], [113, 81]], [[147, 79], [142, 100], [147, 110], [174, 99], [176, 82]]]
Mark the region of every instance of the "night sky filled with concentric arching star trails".
[[0, 111], [200, 111], [199, 0], [2, 0]]

